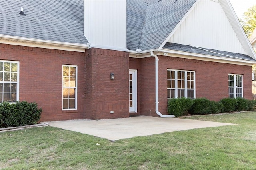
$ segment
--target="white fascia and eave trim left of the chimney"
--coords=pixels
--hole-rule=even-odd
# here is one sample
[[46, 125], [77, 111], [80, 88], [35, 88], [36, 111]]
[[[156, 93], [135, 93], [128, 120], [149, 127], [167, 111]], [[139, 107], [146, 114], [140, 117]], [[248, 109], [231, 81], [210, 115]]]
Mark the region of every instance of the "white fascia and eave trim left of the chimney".
[[3, 34], [0, 34], [0, 43], [76, 52], [85, 52], [85, 49], [89, 47], [88, 44], [57, 42], [18, 36], [8, 36]]

